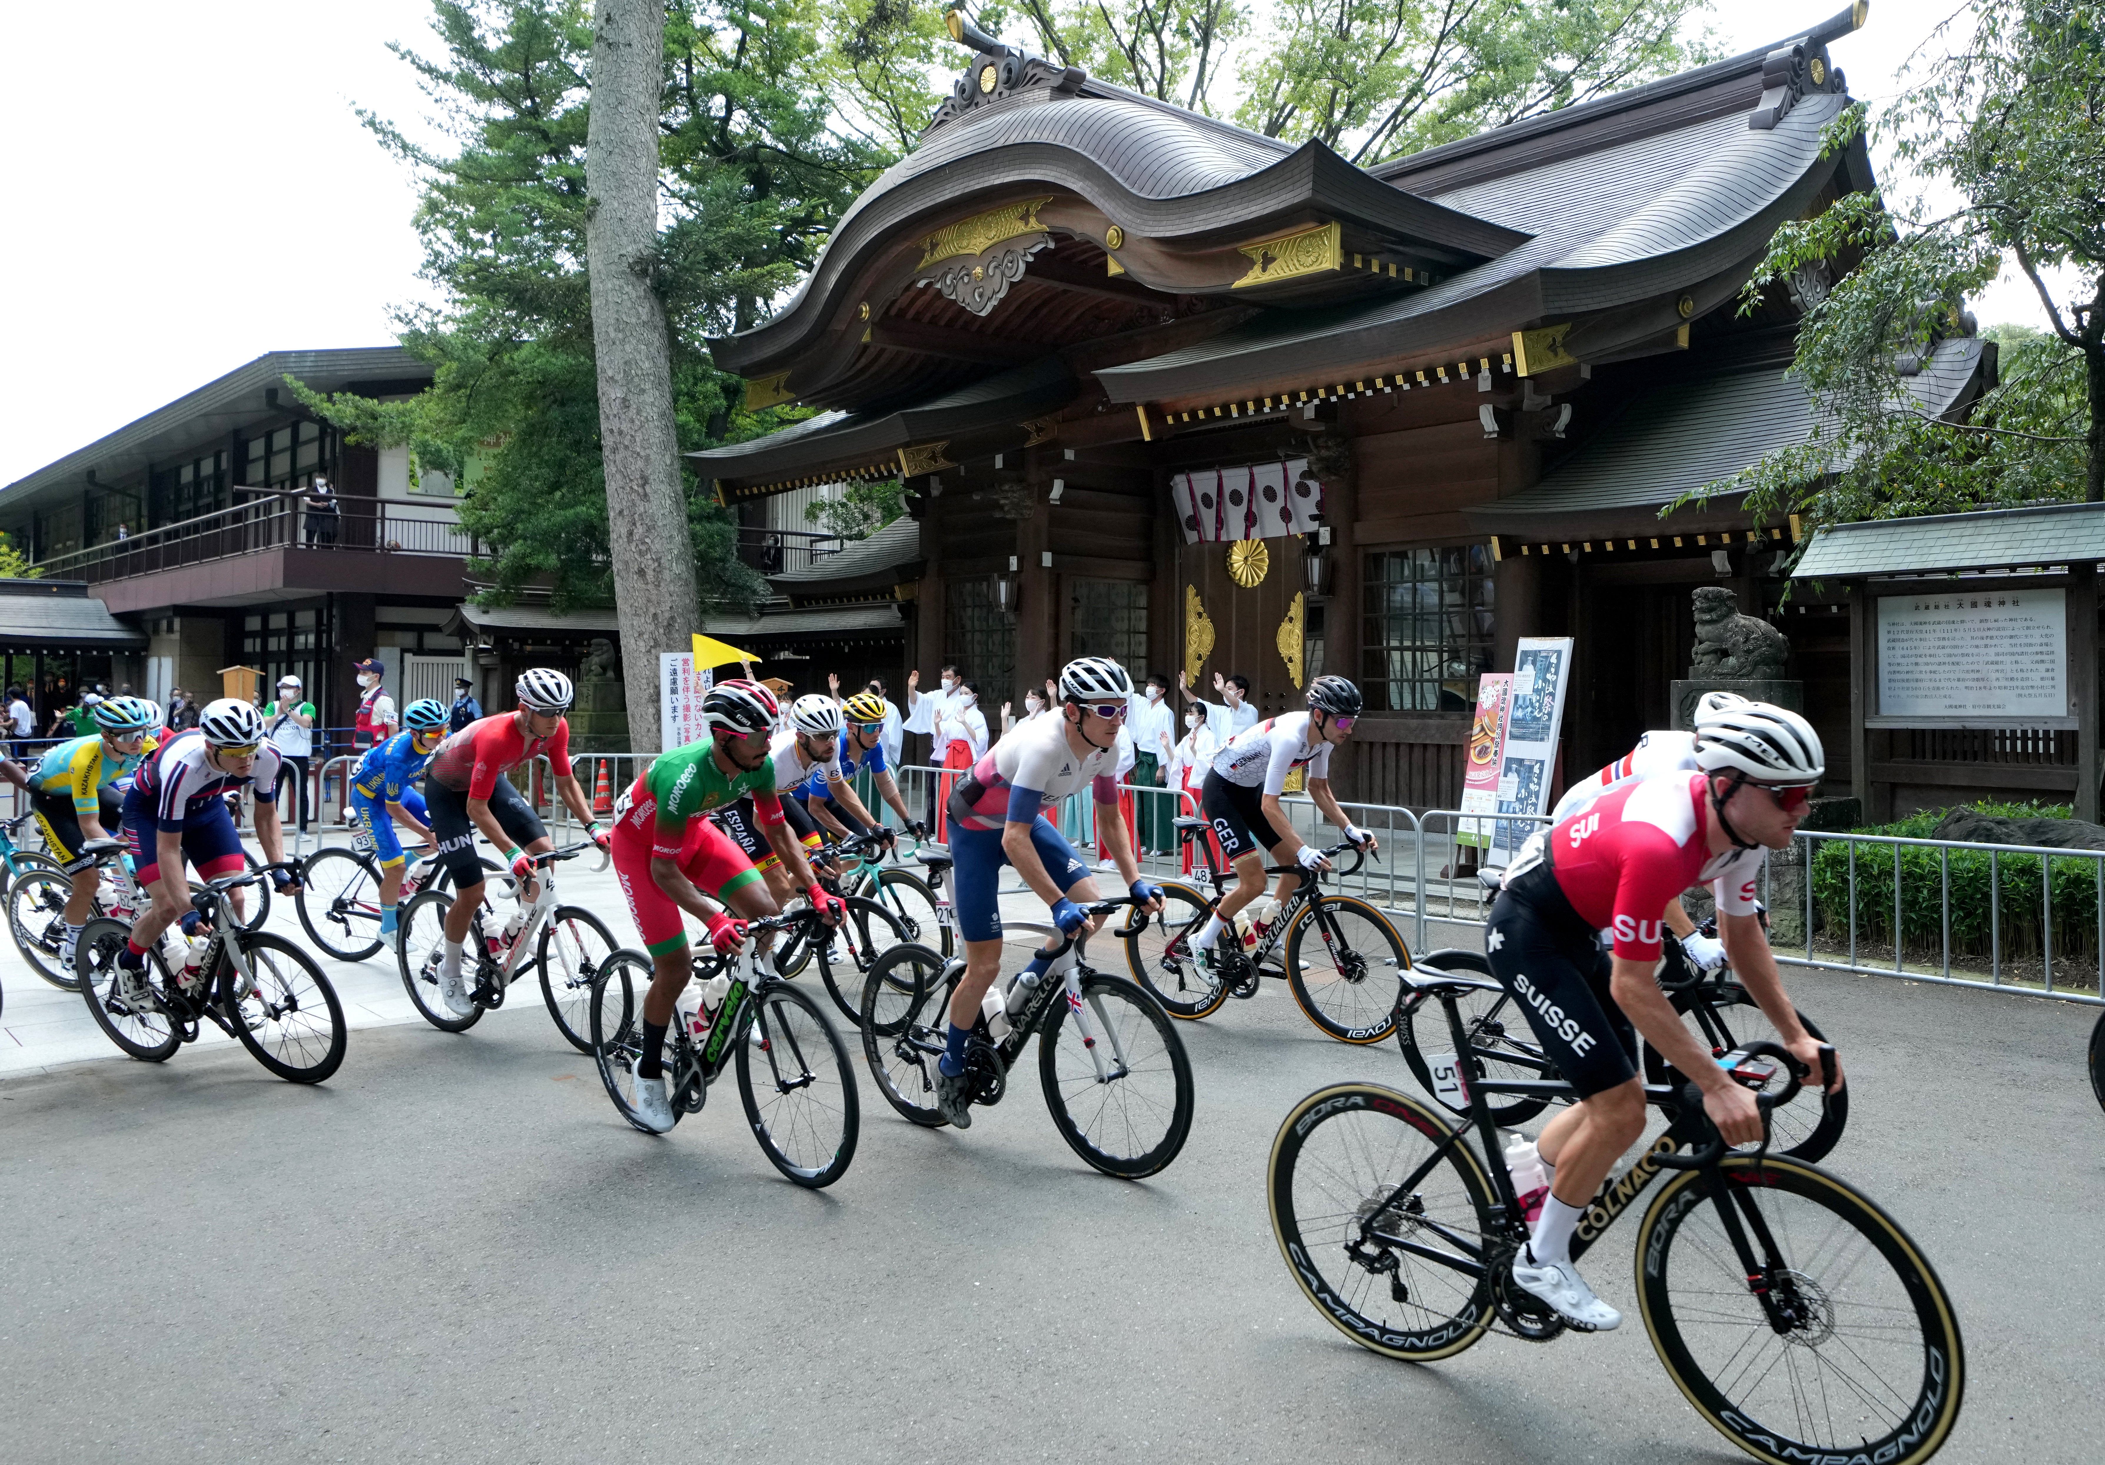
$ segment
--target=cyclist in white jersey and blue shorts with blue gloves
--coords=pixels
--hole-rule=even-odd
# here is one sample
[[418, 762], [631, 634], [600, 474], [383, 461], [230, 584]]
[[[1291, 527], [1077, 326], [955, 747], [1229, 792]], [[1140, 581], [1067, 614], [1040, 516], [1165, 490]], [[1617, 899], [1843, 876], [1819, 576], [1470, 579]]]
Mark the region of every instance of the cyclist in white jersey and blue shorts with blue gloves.
[[[979, 1021], [979, 1004], [1002, 966], [1002, 865], [1015, 865], [1023, 884], [1052, 907], [1052, 924], [1067, 937], [1084, 926], [1095, 930], [1082, 905], [1097, 897], [1088, 865], [1061, 838], [1046, 808], [1059, 808], [1069, 794], [1090, 791], [1097, 829], [1111, 852], [1120, 878], [1147, 911], [1162, 909], [1162, 886], [1141, 878], [1132, 840], [1118, 812], [1118, 732], [1132, 705], [1132, 678], [1109, 657], [1080, 657], [1059, 674], [1061, 709], [1025, 722], [981, 754], [973, 770], [949, 791], [951, 899], [958, 935], [964, 937], [964, 979], [949, 1004], [949, 1031], [937, 1059], [935, 1101], [943, 1118], [970, 1128], [973, 1107], [964, 1071], [964, 1050]], [[1038, 951], [1029, 968], [1038, 977], [1057, 951]]]

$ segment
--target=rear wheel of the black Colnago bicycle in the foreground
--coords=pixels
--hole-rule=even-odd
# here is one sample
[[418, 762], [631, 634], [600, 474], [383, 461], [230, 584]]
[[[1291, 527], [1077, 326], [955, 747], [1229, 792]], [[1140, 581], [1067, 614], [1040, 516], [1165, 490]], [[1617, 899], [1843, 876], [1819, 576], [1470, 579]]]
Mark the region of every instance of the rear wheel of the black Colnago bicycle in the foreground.
[[1271, 1233], [1316, 1311], [1417, 1364], [1463, 1351], [1497, 1318], [1490, 1177], [1465, 1139], [1436, 1156], [1450, 1132], [1446, 1113], [1394, 1088], [1332, 1084], [1280, 1124], [1265, 1175]]

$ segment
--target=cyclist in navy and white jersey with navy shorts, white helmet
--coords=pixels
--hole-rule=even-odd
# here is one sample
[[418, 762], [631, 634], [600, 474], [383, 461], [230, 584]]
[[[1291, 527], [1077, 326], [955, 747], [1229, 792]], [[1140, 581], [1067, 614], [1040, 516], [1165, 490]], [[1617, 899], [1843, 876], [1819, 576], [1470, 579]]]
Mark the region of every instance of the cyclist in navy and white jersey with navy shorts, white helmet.
[[[284, 859], [284, 829], [278, 825], [278, 747], [263, 741], [263, 714], [244, 701], [221, 697], [206, 703], [198, 726], [177, 732], [139, 764], [124, 796], [124, 842], [139, 888], [154, 903], [133, 922], [131, 941], [118, 954], [122, 972], [145, 968], [145, 954], [162, 932], [189, 909], [183, 863], [204, 880], [238, 876], [248, 867], [242, 838], [227, 810], [227, 794], [255, 785], [257, 842], [263, 859]], [[278, 890], [293, 890], [284, 874], [272, 876]], [[246, 909], [246, 890], [234, 890], [234, 909]], [[120, 998], [145, 1000], [145, 983], [120, 977]]]

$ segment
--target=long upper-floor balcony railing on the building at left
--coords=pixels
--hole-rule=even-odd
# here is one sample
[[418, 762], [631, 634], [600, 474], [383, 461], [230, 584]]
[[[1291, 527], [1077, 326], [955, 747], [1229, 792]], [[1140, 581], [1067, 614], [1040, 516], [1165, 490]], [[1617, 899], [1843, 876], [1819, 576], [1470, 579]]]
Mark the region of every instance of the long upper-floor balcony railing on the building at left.
[[206, 564], [261, 549], [333, 554], [417, 554], [465, 560], [480, 554], [474, 535], [450, 518], [415, 514], [381, 499], [339, 499], [333, 516], [303, 514], [293, 497], [269, 497], [149, 528], [88, 549], [38, 560], [57, 579], [88, 583]]

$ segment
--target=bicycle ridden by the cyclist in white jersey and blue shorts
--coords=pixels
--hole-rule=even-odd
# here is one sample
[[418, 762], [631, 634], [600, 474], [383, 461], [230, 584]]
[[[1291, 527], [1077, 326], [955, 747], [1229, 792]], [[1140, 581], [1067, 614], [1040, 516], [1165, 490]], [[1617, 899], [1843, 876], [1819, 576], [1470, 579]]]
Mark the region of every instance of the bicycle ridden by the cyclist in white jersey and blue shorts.
[[[933, 867], [933, 865], [930, 865]], [[1092, 901], [1090, 916], [1135, 905], [1132, 897]], [[1122, 930], [1132, 941], [1147, 928], [1139, 909]], [[996, 983], [973, 1021], [964, 1063], [973, 1103], [996, 1105], [1008, 1092], [1008, 1071], [1038, 1036], [1038, 1084], [1052, 1126], [1082, 1160], [1122, 1179], [1166, 1168], [1191, 1135], [1191, 1059], [1162, 1004], [1122, 977], [1084, 962], [1084, 947], [1057, 926], [1002, 922], [1004, 932], [1031, 932], [1059, 943], [1059, 958], [1036, 987]], [[1036, 943], [1034, 943], [1036, 945]], [[949, 1038], [949, 1002], [964, 977], [964, 958], [930, 947], [897, 945], [878, 958], [863, 985], [863, 1057], [878, 1092], [916, 1124], [947, 1124], [935, 1101], [937, 1059]], [[1002, 1015], [991, 1019], [991, 994]]]

